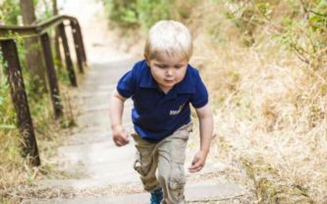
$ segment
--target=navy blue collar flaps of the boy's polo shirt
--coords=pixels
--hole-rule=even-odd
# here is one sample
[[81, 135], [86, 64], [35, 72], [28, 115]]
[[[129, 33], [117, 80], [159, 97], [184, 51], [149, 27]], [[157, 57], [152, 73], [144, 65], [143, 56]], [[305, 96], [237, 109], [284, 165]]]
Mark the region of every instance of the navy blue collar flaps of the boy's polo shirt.
[[[158, 88], [156, 81], [153, 79], [150, 67], [148, 63], [145, 61], [145, 69], [141, 77], [141, 83], [139, 84], [142, 88]], [[188, 65], [186, 68], [186, 73], [184, 79], [175, 85], [177, 89], [177, 93], [195, 93], [195, 84], [192, 79], [191, 74], [191, 65]]]

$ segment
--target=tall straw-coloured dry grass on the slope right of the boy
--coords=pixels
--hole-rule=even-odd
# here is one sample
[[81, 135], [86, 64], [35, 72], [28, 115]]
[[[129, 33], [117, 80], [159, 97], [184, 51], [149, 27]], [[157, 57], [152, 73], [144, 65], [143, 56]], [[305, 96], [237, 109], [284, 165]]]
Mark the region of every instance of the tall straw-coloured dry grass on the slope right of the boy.
[[260, 203], [326, 203], [326, 72], [269, 40], [265, 27], [260, 42], [242, 46], [219, 4], [197, 11], [193, 62], [215, 107], [217, 159], [247, 172]]

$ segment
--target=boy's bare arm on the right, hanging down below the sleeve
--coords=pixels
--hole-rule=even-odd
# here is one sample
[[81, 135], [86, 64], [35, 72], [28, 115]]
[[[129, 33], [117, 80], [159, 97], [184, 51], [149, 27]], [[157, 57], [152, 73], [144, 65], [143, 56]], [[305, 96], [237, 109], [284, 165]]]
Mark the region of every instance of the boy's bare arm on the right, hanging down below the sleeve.
[[213, 114], [209, 104], [195, 109], [200, 122], [200, 151], [194, 156], [190, 172], [200, 171], [208, 155], [211, 140], [213, 138]]

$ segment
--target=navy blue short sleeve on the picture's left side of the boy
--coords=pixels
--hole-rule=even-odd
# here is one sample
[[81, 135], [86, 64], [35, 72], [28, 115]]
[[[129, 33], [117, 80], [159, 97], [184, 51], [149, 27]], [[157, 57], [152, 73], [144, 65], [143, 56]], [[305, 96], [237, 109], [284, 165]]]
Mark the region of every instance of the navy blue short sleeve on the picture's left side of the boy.
[[118, 81], [117, 91], [120, 95], [125, 98], [131, 97], [136, 90], [135, 77], [133, 74], [133, 69], [128, 71], [123, 75], [123, 77]]

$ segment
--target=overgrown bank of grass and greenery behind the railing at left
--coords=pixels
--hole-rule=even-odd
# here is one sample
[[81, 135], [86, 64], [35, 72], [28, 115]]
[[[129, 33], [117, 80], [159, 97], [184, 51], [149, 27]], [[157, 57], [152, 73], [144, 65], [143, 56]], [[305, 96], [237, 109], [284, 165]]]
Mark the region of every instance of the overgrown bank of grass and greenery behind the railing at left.
[[[52, 16], [50, 2], [52, 1], [34, 1], [38, 21]], [[0, 1], [0, 24], [18, 24], [19, 15], [19, 1]], [[27, 67], [25, 54], [29, 51], [24, 47], [24, 40], [14, 34], [13, 37], [16, 38], [18, 46], [18, 55], [24, 75], [41, 166], [32, 168], [21, 157], [22, 139], [16, 127], [15, 109], [7, 79], [7, 64], [3, 61], [3, 55], [0, 52], [0, 158], [2, 158], [0, 160], [0, 203], [20, 203], [21, 199], [31, 196], [35, 181], [44, 177], [64, 176], [61, 172], [54, 171], [54, 165], [49, 161], [49, 158], [55, 154], [55, 147], [63, 140], [64, 132], [69, 131], [66, 127], [74, 123], [72, 110], [69, 107], [71, 105], [69, 93], [72, 91], [67, 86], [68, 79], [65, 69], [59, 67], [58, 60], [56, 60], [64, 116], [60, 120], [54, 120], [49, 93], [44, 92], [45, 87], [37, 86], [34, 83], [35, 76], [30, 73], [30, 69]], [[40, 45], [37, 46], [40, 47]]]

